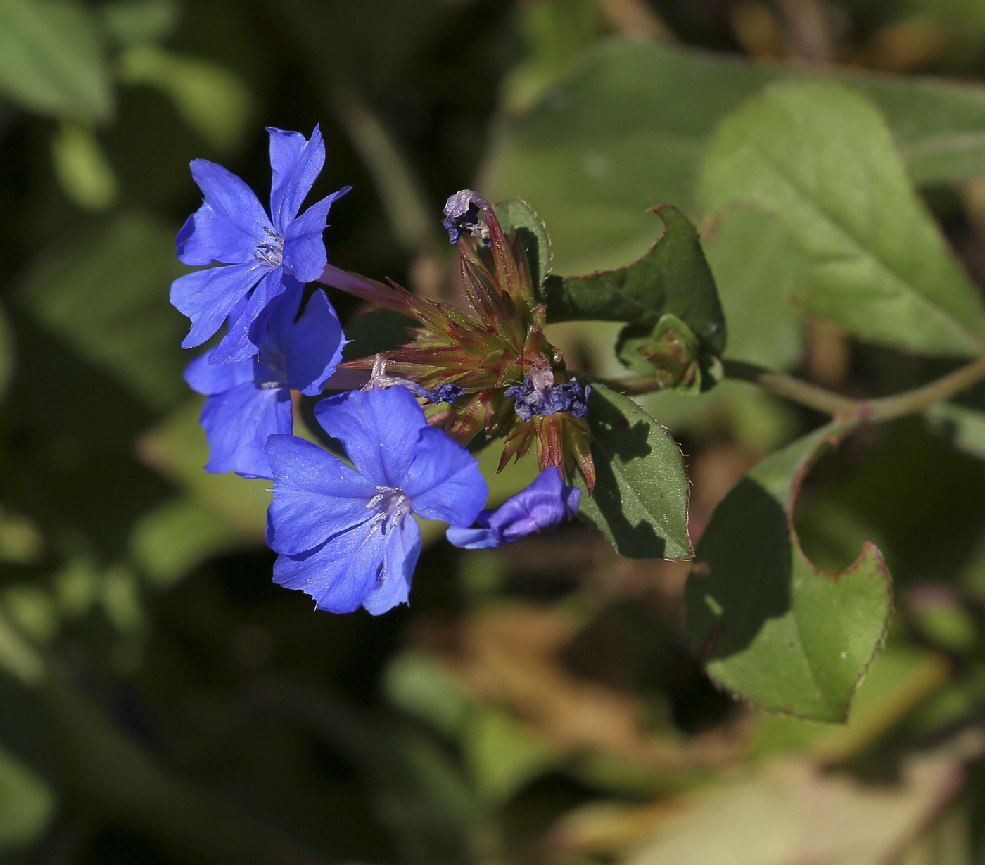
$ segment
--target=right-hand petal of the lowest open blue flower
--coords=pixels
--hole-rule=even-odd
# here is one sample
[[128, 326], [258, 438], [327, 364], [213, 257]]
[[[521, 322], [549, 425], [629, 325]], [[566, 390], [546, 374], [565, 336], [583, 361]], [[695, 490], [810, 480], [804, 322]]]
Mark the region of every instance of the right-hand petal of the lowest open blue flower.
[[479, 460], [446, 432], [425, 427], [420, 435], [401, 485], [414, 512], [425, 519], [472, 525], [490, 492]]

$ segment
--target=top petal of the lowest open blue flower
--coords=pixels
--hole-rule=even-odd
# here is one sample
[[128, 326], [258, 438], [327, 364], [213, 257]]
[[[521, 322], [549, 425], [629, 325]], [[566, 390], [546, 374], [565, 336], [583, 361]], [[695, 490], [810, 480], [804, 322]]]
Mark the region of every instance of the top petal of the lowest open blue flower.
[[325, 432], [374, 487], [403, 487], [419, 432], [427, 429], [424, 410], [403, 387], [350, 391], [323, 399], [314, 410]]

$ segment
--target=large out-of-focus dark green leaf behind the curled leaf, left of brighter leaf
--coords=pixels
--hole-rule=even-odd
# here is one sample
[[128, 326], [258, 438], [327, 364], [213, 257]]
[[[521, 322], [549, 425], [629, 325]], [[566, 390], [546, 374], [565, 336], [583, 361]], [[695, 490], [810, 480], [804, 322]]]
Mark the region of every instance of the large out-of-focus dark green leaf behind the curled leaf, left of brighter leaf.
[[643, 254], [648, 208], [689, 208], [704, 140], [773, 75], [642, 41], [591, 50], [570, 78], [506, 123], [483, 190], [522, 196], [551, 227], [555, 269], [617, 267]]

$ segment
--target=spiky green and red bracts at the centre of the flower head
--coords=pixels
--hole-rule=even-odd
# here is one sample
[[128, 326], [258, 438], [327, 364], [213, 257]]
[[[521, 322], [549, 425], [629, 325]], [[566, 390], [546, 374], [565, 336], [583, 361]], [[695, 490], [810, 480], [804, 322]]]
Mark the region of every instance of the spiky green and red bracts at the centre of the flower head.
[[471, 193], [472, 213], [483, 223], [458, 237], [460, 268], [465, 293], [472, 306], [465, 312], [440, 300], [422, 299], [391, 283], [384, 286], [329, 268], [323, 282], [379, 306], [416, 319], [412, 342], [378, 356], [341, 365], [350, 369], [377, 369], [433, 389], [454, 384], [466, 394], [456, 404], [428, 411], [428, 422], [462, 443], [479, 432], [504, 437], [501, 471], [537, 442], [537, 460], [543, 471], [557, 466], [562, 472], [575, 465], [589, 491], [595, 486], [595, 466], [589, 448], [588, 424], [568, 412], [534, 414], [524, 421], [505, 390], [522, 384], [526, 376], [547, 378], [561, 385], [573, 376], [561, 352], [544, 335], [547, 307], [539, 286], [531, 279], [527, 252], [515, 231], [504, 233], [492, 206]]

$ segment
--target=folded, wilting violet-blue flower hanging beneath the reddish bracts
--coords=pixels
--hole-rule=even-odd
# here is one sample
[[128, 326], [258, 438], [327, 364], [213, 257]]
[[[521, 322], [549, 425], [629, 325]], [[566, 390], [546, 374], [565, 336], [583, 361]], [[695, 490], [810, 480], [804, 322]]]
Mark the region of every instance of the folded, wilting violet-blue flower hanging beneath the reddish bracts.
[[446, 534], [456, 547], [485, 550], [512, 544], [527, 535], [547, 532], [578, 512], [581, 491], [561, 481], [556, 466], [548, 466], [537, 480], [495, 510], [484, 510], [476, 519], [481, 528], [450, 527]]

